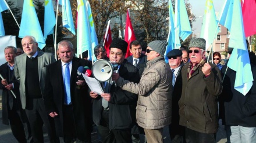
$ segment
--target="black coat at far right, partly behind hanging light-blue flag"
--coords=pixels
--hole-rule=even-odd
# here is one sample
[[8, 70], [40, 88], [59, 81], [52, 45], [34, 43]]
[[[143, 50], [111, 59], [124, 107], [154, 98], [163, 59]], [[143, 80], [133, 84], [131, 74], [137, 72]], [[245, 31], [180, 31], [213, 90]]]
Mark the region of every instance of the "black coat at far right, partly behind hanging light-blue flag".
[[[225, 74], [227, 64], [222, 69]], [[251, 65], [253, 86], [246, 96], [234, 89], [236, 71], [228, 68], [223, 80], [223, 91], [219, 96], [219, 114], [222, 123], [230, 126], [256, 126], [256, 66]]]

